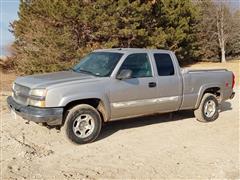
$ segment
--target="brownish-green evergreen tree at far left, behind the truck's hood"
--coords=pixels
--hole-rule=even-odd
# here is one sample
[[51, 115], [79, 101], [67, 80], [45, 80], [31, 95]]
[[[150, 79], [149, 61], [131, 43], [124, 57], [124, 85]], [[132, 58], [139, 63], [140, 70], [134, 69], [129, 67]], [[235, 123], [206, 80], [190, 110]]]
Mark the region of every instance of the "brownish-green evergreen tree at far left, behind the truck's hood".
[[77, 45], [68, 21], [74, 12], [68, 7], [67, 1], [20, 2], [19, 20], [12, 24], [18, 71], [49, 72], [71, 64]]

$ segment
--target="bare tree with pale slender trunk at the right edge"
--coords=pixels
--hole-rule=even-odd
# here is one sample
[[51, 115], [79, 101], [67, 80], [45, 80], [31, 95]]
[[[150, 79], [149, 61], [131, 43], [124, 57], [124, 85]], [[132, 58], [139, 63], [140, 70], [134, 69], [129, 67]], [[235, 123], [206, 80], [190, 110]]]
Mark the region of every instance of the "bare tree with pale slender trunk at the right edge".
[[[226, 62], [226, 54], [230, 53], [230, 46], [236, 46], [239, 35], [239, 19], [234, 18], [228, 4], [203, 0], [199, 3], [201, 9], [201, 23], [199, 24], [199, 44], [201, 55], [205, 58], [218, 57]], [[235, 47], [236, 48], [236, 47]]]

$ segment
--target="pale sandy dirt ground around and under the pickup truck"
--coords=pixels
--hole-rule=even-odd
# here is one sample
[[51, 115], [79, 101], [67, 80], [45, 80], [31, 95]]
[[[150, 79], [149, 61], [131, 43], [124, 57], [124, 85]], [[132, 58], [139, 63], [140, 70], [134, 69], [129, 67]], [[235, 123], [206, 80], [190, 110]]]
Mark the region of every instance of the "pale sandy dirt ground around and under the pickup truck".
[[[239, 62], [192, 67], [212, 65], [239, 77]], [[174, 113], [172, 118], [169, 114], [134, 118], [104, 126], [98, 140], [86, 145], [73, 145], [60, 131], [13, 118], [5, 109], [9, 88], [2, 89], [2, 179], [240, 178], [239, 83], [236, 97], [221, 104], [214, 122], [200, 123], [191, 111]]]

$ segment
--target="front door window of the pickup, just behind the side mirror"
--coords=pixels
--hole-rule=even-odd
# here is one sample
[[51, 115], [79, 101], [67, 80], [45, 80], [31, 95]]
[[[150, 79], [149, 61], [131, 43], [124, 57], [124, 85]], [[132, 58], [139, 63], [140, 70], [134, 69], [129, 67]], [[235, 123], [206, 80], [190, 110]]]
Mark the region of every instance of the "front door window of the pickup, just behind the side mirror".
[[151, 77], [151, 64], [146, 53], [130, 54], [123, 62], [119, 72], [123, 69], [132, 71], [133, 78]]

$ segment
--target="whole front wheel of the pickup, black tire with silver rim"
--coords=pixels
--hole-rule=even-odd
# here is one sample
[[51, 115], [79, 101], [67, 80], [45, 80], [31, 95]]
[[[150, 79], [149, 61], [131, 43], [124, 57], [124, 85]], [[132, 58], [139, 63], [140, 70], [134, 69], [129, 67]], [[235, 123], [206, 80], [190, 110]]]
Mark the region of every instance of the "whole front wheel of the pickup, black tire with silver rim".
[[67, 138], [76, 144], [93, 142], [99, 135], [102, 119], [92, 106], [81, 104], [68, 111], [63, 126]]

